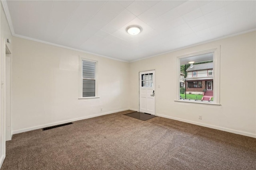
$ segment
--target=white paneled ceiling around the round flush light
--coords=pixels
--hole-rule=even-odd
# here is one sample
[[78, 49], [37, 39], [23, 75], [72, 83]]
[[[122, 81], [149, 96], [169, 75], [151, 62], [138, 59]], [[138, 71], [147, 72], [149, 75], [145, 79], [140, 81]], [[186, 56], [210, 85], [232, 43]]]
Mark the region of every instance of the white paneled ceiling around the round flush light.
[[16, 37], [128, 62], [256, 29], [254, 0], [6, 2]]

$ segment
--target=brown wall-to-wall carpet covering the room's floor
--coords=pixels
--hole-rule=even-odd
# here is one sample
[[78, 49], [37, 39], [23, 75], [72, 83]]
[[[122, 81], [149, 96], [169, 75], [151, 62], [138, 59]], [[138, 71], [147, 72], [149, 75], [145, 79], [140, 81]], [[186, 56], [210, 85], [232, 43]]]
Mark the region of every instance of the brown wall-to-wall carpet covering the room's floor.
[[13, 135], [1, 170], [255, 170], [256, 139], [122, 111]]

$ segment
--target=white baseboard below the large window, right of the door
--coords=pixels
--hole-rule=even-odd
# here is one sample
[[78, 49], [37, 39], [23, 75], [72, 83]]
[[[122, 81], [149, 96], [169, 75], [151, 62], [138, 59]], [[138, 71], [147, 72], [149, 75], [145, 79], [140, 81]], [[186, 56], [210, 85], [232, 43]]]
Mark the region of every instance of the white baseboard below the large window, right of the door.
[[180, 118], [172, 117], [172, 116], [159, 115], [159, 114], [158, 114], [158, 116], [160, 116], [160, 117], [165, 117], [165, 118], [168, 118], [168, 119], [174, 119], [174, 120], [178, 120], [178, 121], [183, 121], [183, 122], [186, 122], [186, 123], [191, 123], [191, 124], [199, 125], [199, 126], [203, 126], [203, 127], [209, 127], [209, 128], [212, 128], [212, 129], [218, 129], [218, 130], [226, 131], [226, 132], [230, 132], [230, 133], [235, 133], [235, 134], [238, 134], [238, 135], [244, 135], [244, 136], [256, 138], [256, 134], [253, 134], [253, 133], [247, 133], [247, 132], [243, 132], [243, 131], [237, 131], [237, 130], [234, 130], [234, 129], [228, 129], [228, 128], [220, 127], [220, 126], [208, 125], [208, 124], [205, 124], [205, 123], [199, 123], [199, 122], [196, 122], [196, 121], [190, 121], [190, 120], [186, 120], [186, 119], [180, 119]]

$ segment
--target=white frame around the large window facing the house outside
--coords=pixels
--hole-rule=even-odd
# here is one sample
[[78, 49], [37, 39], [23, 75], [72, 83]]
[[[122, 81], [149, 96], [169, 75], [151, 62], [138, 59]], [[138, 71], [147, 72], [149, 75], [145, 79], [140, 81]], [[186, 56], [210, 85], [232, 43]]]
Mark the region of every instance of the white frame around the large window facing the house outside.
[[[180, 82], [180, 59], [186, 58], [186, 57], [193, 57], [196, 55], [202, 55], [206, 53], [213, 53], [213, 69], [212, 69], [212, 77], [213, 83], [212, 86], [214, 86], [213, 92], [214, 92], [214, 100], [213, 102], [202, 102], [202, 101], [191, 101], [191, 100], [180, 100], [180, 88], [179, 88], [179, 82]], [[176, 100], [175, 102], [188, 102], [188, 103], [196, 103], [196, 104], [210, 104], [210, 105], [220, 105], [220, 46], [213, 48], [213, 49], [208, 49], [205, 51], [200, 51], [200, 52], [191, 52], [186, 55], [178, 56], [176, 58], [177, 61], [177, 88], [176, 88]], [[193, 73], [192, 73], [193, 74]], [[198, 79], [200, 80], [200, 79]]]

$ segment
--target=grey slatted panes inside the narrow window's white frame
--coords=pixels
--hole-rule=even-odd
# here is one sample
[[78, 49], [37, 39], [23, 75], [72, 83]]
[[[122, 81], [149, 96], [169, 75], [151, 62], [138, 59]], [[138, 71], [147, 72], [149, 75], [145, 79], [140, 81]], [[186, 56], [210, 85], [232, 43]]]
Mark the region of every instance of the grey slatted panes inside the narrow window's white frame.
[[82, 60], [82, 97], [95, 97], [96, 63]]

